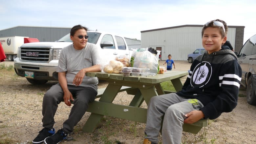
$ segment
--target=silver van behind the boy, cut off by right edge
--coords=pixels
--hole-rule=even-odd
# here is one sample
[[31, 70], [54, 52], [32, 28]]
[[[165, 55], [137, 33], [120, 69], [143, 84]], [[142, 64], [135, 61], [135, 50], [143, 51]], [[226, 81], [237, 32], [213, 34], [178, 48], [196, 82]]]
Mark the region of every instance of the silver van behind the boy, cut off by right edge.
[[246, 41], [237, 57], [242, 68], [241, 85], [246, 88], [247, 102], [256, 105], [256, 35]]

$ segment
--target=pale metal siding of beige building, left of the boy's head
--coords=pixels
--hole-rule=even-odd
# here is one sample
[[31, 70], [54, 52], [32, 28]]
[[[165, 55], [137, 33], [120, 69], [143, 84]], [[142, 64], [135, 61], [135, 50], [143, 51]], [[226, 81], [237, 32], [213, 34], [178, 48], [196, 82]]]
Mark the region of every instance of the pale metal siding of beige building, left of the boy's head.
[[162, 47], [162, 60], [186, 60], [187, 54], [202, 48], [202, 27], [181, 27], [141, 33], [141, 47]]

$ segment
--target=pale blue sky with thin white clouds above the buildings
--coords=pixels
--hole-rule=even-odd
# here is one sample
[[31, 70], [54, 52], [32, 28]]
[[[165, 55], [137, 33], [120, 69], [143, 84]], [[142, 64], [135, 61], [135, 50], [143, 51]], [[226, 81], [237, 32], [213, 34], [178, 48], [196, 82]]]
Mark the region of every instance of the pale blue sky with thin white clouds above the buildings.
[[0, 2], [0, 30], [81, 24], [140, 39], [140, 31], [222, 19], [230, 26], [245, 26], [245, 42], [256, 34], [255, 6], [255, 0], [5, 0]]

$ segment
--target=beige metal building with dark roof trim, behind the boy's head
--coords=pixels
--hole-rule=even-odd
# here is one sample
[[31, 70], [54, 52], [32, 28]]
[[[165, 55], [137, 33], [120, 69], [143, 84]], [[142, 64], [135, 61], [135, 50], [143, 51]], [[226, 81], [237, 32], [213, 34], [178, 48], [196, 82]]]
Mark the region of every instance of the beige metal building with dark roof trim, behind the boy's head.
[[[182, 25], [141, 32], [141, 48], [152, 47], [161, 51], [161, 60], [168, 59], [186, 61], [187, 55], [202, 46], [203, 25]], [[227, 40], [235, 52], [243, 46], [244, 26], [228, 26]]]

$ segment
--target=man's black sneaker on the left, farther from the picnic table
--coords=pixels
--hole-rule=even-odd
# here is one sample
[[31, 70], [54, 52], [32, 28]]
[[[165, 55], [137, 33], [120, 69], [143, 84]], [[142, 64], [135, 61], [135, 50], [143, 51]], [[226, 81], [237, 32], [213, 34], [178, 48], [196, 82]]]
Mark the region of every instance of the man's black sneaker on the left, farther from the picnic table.
[[32, 141], [32, 144], [41, 144], [44, 142], [44, 139], [46, 137], [49, 137], [51, 135], [53, 135], [55, 133], [55, 129], [50, 130], [47, 128], [43, 128], [40, 132], [38, 132], [39, 134], [35, 137], [35, 139]]

